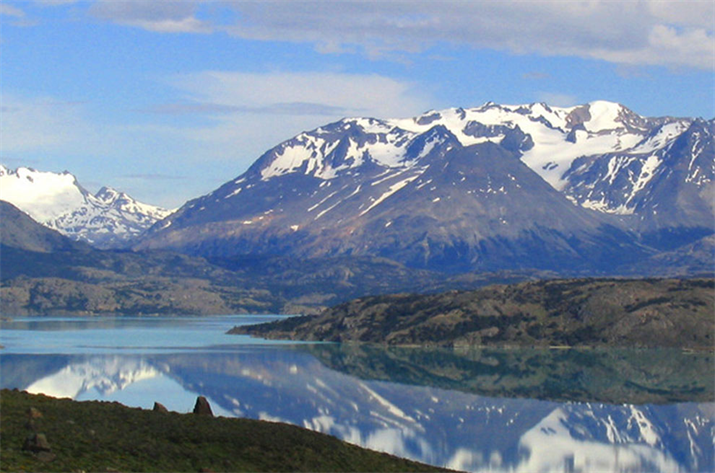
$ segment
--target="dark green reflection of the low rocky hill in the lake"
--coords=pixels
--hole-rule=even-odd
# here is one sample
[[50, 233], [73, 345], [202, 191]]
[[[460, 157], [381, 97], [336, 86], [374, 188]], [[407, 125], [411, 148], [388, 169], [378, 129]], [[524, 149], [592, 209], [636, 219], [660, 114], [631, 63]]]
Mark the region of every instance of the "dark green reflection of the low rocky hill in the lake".
[[676, 349], [301, 346], [325, 366], [367, 380], [498, 398], [608, 404], [715, 401], [715, 354]]

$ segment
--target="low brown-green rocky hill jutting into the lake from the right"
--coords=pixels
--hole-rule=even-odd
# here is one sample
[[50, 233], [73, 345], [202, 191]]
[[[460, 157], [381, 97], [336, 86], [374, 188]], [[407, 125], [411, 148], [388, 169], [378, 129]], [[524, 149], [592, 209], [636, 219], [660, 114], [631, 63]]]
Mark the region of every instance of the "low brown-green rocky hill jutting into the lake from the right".
[[366, 297], [236, 327], [268, 338], [445, 346], [715, 348], [715, 279], [574, 279]]

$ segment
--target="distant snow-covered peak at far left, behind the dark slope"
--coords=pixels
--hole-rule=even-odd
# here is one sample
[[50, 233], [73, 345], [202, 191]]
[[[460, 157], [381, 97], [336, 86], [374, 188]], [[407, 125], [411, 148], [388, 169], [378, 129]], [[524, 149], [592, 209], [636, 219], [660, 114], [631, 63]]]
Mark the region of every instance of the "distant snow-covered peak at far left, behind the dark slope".
[[42, 172], [0, 165], [0, 200], [34, 220], [99, 248], [124, 245], [170, 212], [103, 187], [89, 193], [68, 172]]

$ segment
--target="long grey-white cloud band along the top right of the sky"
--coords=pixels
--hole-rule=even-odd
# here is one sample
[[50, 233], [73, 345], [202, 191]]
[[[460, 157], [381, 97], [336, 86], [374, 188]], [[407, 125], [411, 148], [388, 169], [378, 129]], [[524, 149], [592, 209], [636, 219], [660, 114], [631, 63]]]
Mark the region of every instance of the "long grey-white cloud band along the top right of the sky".
[[[368, 55], [415, 52], [439, 42], [513, 53], [623, 64], [712, 68], [715, 2], [243, 2], [231, 34], [312, 42], [320, 51], [358, 45]], [[664, 34], [667, 32], [668, 34]]]

